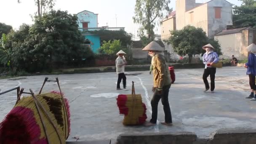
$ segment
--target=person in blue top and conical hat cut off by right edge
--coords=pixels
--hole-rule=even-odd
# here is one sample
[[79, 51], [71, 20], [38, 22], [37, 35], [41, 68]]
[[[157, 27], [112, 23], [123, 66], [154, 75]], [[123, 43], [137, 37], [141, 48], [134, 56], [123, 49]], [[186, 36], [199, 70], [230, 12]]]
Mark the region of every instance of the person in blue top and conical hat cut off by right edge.
[[246, 74], [249, 75], [249, 84], [251, 87], [251, 94], [246, 98], [251, 99], [251, 101], [256, 101], [256, 45], [252, 43], [246, 49], [250, 54], [248, 56], [248, 62], [244, 65], [244, 67], [247, 68]]

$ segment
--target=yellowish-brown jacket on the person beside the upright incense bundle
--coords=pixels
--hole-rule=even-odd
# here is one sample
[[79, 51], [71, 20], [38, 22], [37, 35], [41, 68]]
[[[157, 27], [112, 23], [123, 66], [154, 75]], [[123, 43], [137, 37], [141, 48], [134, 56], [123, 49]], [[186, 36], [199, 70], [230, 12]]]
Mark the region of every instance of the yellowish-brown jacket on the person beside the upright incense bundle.
[[155, 88], [163, 88], [171, 84], [171, 75], [166, 64], [165, 57], [158, 54], [154, 58], [153, 80]]

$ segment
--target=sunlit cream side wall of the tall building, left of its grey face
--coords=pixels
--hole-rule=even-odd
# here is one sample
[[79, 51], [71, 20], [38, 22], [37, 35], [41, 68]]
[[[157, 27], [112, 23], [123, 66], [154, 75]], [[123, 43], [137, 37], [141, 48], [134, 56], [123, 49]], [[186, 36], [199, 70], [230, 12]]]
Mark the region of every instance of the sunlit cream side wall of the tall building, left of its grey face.
[[202, 28], [208, 34], [208, 6], [207, 4], [196, 7], [185, 13], [185, 25]]

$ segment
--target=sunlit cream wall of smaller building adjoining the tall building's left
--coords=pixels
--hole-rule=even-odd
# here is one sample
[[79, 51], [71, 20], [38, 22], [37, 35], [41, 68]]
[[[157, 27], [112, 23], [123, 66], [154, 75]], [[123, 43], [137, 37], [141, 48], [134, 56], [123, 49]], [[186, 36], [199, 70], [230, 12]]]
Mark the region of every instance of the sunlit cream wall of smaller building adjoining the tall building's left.
[[161, 40], [167, 40], [171, 36], [171, 32], [176, 29], [175, 17], [166, 19], [161, 26]]

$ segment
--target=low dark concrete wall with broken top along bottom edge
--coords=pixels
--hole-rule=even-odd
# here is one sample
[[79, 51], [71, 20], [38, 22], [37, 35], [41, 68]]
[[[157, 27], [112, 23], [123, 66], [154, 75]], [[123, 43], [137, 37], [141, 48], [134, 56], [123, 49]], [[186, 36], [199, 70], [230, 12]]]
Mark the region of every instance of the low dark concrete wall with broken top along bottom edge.
[[117, 137], [116, 144], [256, 144], [256, 130], [219, 130], [208, 138], [195, 133], [126, 133]]

